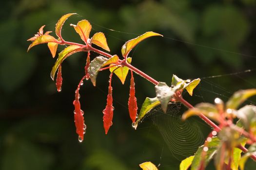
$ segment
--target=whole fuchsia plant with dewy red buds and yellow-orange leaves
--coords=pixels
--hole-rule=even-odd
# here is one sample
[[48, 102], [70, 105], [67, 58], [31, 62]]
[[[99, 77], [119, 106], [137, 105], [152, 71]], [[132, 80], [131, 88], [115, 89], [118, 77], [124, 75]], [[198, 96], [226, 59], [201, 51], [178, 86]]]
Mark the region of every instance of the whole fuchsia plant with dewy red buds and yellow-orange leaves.
[[[103, 33], [96, 33], [89, 38], [92, 26], [87, 20], [81, 20], [77, 25], [71, 24], [75, 31], [80, 35], [84, 44], [64, 40], [61, 36], [61, 29], [65, 20], [72, 15], [75, 14], [66, 14], [57, 22], [55, 30], [58, 37], [57, 39], [52, 35], [49, 35], [51, 33], [49, 31], [43, 34], [44, 26], [42, 26], [34, 37], [28, 39], [28, 41], [32, 41], [32, 44], [28, 47], [28, 51], [38, 44], [48, 43], [49, 50], [51, 51], [52, 56], [55, 57], [58, 45], [68, 45], [59, 53], [59, 57], [51, 71], [51, 78], [54, 80], [58, 69], [56, 86], [59, 92], [61, 91], [62, 85], [61, 64], [63, 60], [76, 52], [87, 52], [85, 75], [79, 82], [78, 88], [75, 92], [75, 100], [73, 102], [75, 106], [74, 118], [77, 129], [76, 132], [79, 135], [80, 142], [83, 141], [83, 136], [86, 130], [83, 118], [84, 112], [81, 110], [79, 102], [80, 85], [83, 84], [84, 80], [90, 79], [92, 84], [96, 86], [98, 72], [105, 69], [110, 70], [107, 104], [103, 110], [103, 127], [107, 134], [110, 126], [113, 124], [112, 119], [114, 107], [112, 98], [113, 89], [111, 86], [113, 73], [116, 74], [122, 84], [124, 84], [126, 76], [130, 70], [131, 81], [128, 109], [130, 118], [133, 122], [132, 125], [135, 129], [141, 119], [143, 119], [143, 117], [155, 106], [160, 104], [163, 111], [166, 112], [169, 102], [181, 102], [189, 108], [189, 110], [183, 114], [182, 119], [185, 120], [190, 116], [197, 115], [213, 128], [213, 131], [206, 138], [204, 145], [198, 148], [195, 155], [190, 156], [181, 162], [180, 170], [187, 170], [189, 167], [191, 167], [191, 170], [204, 170], [213, 158], [215, 160], [217, 170], [238, 170], [238, 167], [241, 170], [244, 170], [244, 165], [248, 157], [256, 160], [256, 106], [246, 105], [238, 109], [238, 106], [242, 102], [247, 100], [249, 97], [256, 95], [256, 89], [240, 90], [236, 92], [228, 102], [226, 102], [226, 104], [217, 98], [215, 100], [215, 104], [199, 103], [193, 107], [183, 99], [182, 92], [183, 90], [186, 90], [192, 96], [193, 90], [199, 84], [200, 79], [192, 81], [182, 80], [176, 75], [173, 75], [172, 85], [168, 86], [166, 83], [156, 81], [149, 75], [131, 65], [132, 59], [128, 57], [129, 52], [140, 41], [151, 36], [162, 36], [161, 34], [146, 32], [137, 38], [127, 41], [121, 48], [122, 58], [119, 58], [118, 55], [111, 55], [92, 47], [92, 44], [95, 44], [105, 51], [110, 51], [106, 37]], [[96, 52], [100, 55], [91, 61], [90, 51]], [[139, 114], [137, 114], [138, 107], [135, 96], [133, 72], [153, 83], [156, 90], [156, 97], [147, 97], [140, 108]], [[236, 121], [236, 118], [239, 120]], [[244, 147], [245, 144], [250, 145], [249, 149]], [[241, 156], [242, 152], [244, 152], [244, 154]], [[151, 162], [145, 162], [141, 164], [140, 167], [143, 170], [157, 170], [157, 167]]]

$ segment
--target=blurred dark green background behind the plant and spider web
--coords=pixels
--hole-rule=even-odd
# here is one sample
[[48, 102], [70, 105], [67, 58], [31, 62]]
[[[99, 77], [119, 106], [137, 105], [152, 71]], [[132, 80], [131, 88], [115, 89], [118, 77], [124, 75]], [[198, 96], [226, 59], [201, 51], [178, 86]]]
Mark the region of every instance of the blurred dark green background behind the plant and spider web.
[[[93, 26], [91, 36], [105, 33], [111, 54], [120, 55], [125, 41], [138, 34], [163, 34], [140, 43], [130, 54], [132, 63], [169, 85], [172, 74], [202, 78], [194, 97], [185, 94], [192, 104], [213, 102], [215, 97], [226, 101], [238, 89], [256, 87], [256, 0], [6, 0], [0, 7], [0, 170], [139, 170], [145, 161], [160, 164], [160, 170], [178, 169], [180, 160], [150, 119], [137, 131], [132, 128], [129, 81], [121, 85], [113, 78], [114, 120], [104, 134], [108, 71], [100, 72], [97, 87], [86, 82], [80, 90], [87, 132], [79, 143], [72, 102], [86, 53], [62, 64], [58, 93], [50, 78], [56, 59], [47, 46], [26, 52], [26, 40], [40, 26], [54, 31], [67, 13], [79, 16], [66, 21], [64, 39], [81, 43], [69, 24], [87, 19]], [[235, 74], [225, 76], [229, 73]], [[135, 82], [139, 106], [146, 97], [155, 97], [154, 85], [137, 75]], [[201, 129], [204, 135], [210, 130]], [[252, 170], [256, 164], [249, 161], [246, 166]]]

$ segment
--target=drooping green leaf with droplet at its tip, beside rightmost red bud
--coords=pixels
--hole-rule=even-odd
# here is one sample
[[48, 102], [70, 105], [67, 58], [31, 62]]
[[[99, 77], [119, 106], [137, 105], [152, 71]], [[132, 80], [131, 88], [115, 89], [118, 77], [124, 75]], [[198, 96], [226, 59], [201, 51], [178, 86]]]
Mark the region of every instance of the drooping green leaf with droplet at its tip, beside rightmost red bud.
[[138, 126], [138, 122], [144, 118], [144, 116], [154, 107], [156, 107], [157, 105], [160, 104], [160, 101], [158, 100], [157, 97], [155, 98], [146, 98], [145, 101], [143, 102], [139, 115], [138, 115], [138, 119], [136, 120], [135, 124], [134, 124], [134, 128], [136, 129]]

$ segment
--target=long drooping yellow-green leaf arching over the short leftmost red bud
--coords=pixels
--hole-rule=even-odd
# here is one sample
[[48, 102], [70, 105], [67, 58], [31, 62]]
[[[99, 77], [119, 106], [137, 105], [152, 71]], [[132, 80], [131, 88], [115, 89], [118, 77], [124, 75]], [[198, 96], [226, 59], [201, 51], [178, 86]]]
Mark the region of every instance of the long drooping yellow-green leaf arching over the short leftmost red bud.
[[59, 65], [63, 62], [63, 60], [65, 60], [68, 56], [70, 56], [71, 54], [74, 54], [78, 51], [81, 51], [81, 47], [77, 46], [77, 45], [71, 45], [66, 47], [63, 51], [61, 51], [59, 53], [59, 57], [57, 59], [57, 61], [55, 62], [52, 71], [51, 71], [51, 78], [54, 80], [55, 77], [55, 73], [57, 71], [57, 69], [59, 68]]

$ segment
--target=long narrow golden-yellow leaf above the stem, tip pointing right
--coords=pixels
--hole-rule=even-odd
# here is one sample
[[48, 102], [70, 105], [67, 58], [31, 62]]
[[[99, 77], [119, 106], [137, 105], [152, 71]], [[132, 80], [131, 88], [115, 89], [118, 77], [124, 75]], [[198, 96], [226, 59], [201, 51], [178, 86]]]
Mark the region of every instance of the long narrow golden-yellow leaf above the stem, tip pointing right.
[[140, 36], [138, 36], [137, 38], [131, 39], [129, 41], [127, 41], [121, 49], [122, 55], [123, 57], [127, 56], [129, 54], [129, 52], [142, 40], [150, 37], [150, 36], [163, 36], [161, 34], [158, 33], [154, 33], [154, 32], [146, 32]]

